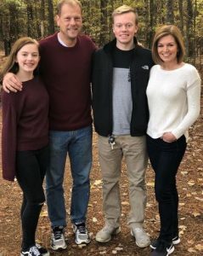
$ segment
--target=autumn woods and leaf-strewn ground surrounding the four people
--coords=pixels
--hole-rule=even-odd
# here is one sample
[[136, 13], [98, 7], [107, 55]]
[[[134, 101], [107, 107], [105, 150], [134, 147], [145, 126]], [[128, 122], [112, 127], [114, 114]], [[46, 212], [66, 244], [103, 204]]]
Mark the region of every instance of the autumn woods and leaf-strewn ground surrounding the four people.
[[[185, 45], [185, 61], [198, 68], [203, 79], [203, 0], [81, 0], [83, 6], [83, 31], [102, 46], [113, 38], [113, 9], [128, 4], [138, 10], [138, 41], [150, 49], [155, 30], [166, 23], [176, 24], [182, 31]], [[17, 38], [31, 36], [44, 38], [58, 30], [54, 22], [54, 0], [0, 0], [0, 68]], [[203, 92], [203, 90], [202, 90]], [[189, 143], [178, 172], [179, 229], [181, 243], [174, 256], [203, 255], [203, 96], [201, 92], [200, 117], [189, 129]], [[0, 108], [1, 119], [1, 108]], [[2, 123], [0, 121], [0, 130]], [[1, 149], [0, 149], [1, 154]], [[1, 166], [1, 159], [0, 159]], [[20, 204], [22, 192], [18, 183], [9, 183], [1, 178], [0, 168], [0, 256], [20, 254]], [[67, 205], [68, 227], [65, 236], [68, 249], [54, 253], [49, 247], [50, 222], [47, 206], [40, 215], [37, 241], [50, 250], [52, 256], [65, 255], [119, 255], [148, 256], [150, 249], [140, 249], [135, 245], [127, 227], [129, 197], [127, 166], [125, 161], [121, 171], [121, 233], [107, 244], [95, 241], [96, 232], [104, 224], [102, 212], [102, 180], [98, 160], [97, 136], [93, 133], [93, 168], [91, 172], [91, 196], [88, 205], [87, 226], [92, 237], [87, 247], [77, 247], [70, 225], [71, 194], [70, 163], [65, 167], [65, 201]], [[158, 236], [160, 220], [154, 194], [154, 172], [149, 164], [146, 184], [148, 203], [144, 228], [152, 239]]]

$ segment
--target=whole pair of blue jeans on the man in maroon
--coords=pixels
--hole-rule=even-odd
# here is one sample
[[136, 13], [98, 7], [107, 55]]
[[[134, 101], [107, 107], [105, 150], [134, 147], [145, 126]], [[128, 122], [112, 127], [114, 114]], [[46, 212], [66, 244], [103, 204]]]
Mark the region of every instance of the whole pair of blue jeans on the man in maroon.
[[66, 226], [63, 181], [67, 154], [73, 179], [70, 218], [75, 224], [86, 221], [90, 192], [89, 173], [92, 166], [92, 137], [92, 125], [76, 131], [50, 131], [50, 166], [46, 174], [46, 193], [52, 227]]

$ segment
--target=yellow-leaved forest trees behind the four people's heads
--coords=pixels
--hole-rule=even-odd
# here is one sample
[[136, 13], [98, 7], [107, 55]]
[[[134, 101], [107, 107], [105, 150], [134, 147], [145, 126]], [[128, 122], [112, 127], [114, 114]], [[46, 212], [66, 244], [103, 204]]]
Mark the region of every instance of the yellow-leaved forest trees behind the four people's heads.
[[[161, 24], [177, 25], [185, 38], [187, 56], [198, 61], [203, 54], [203, 0], [81, 0], [83, 32], [96, 44], [113, 38], [113, 9], [128, 4], [138, 10], [138, 40], [150, 48], [155, 29]], [[57, 0], [0, 0], [0, 49], [8, 55], [13, 42], [22, 36], [44, 38], [58, 30], [55, 22]]]

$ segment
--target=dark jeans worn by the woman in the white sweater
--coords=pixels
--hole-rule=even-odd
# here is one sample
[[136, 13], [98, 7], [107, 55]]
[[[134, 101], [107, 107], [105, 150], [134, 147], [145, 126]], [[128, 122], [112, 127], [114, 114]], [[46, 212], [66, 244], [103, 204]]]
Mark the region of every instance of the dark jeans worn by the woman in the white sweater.
[[180, 137], [173, 143], [147, 137], [151, 166], [155, 171], [155, 198], [159, 203], [161, 232], [159, 239], [171, 242], [178, 236], [178, 190], [176, 174], [187, 143]]

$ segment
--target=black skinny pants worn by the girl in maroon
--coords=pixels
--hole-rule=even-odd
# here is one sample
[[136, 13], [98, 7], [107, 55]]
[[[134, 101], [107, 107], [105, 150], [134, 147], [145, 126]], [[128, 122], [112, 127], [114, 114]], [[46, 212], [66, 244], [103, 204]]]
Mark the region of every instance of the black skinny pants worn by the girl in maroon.
[[35, 245], [38, 218], [45, 201], [42, 183], [48, 168], [48, 161], [48, 147], [17, 151], [16, 178], [23, 191], [21, 207], [23, 250]]

